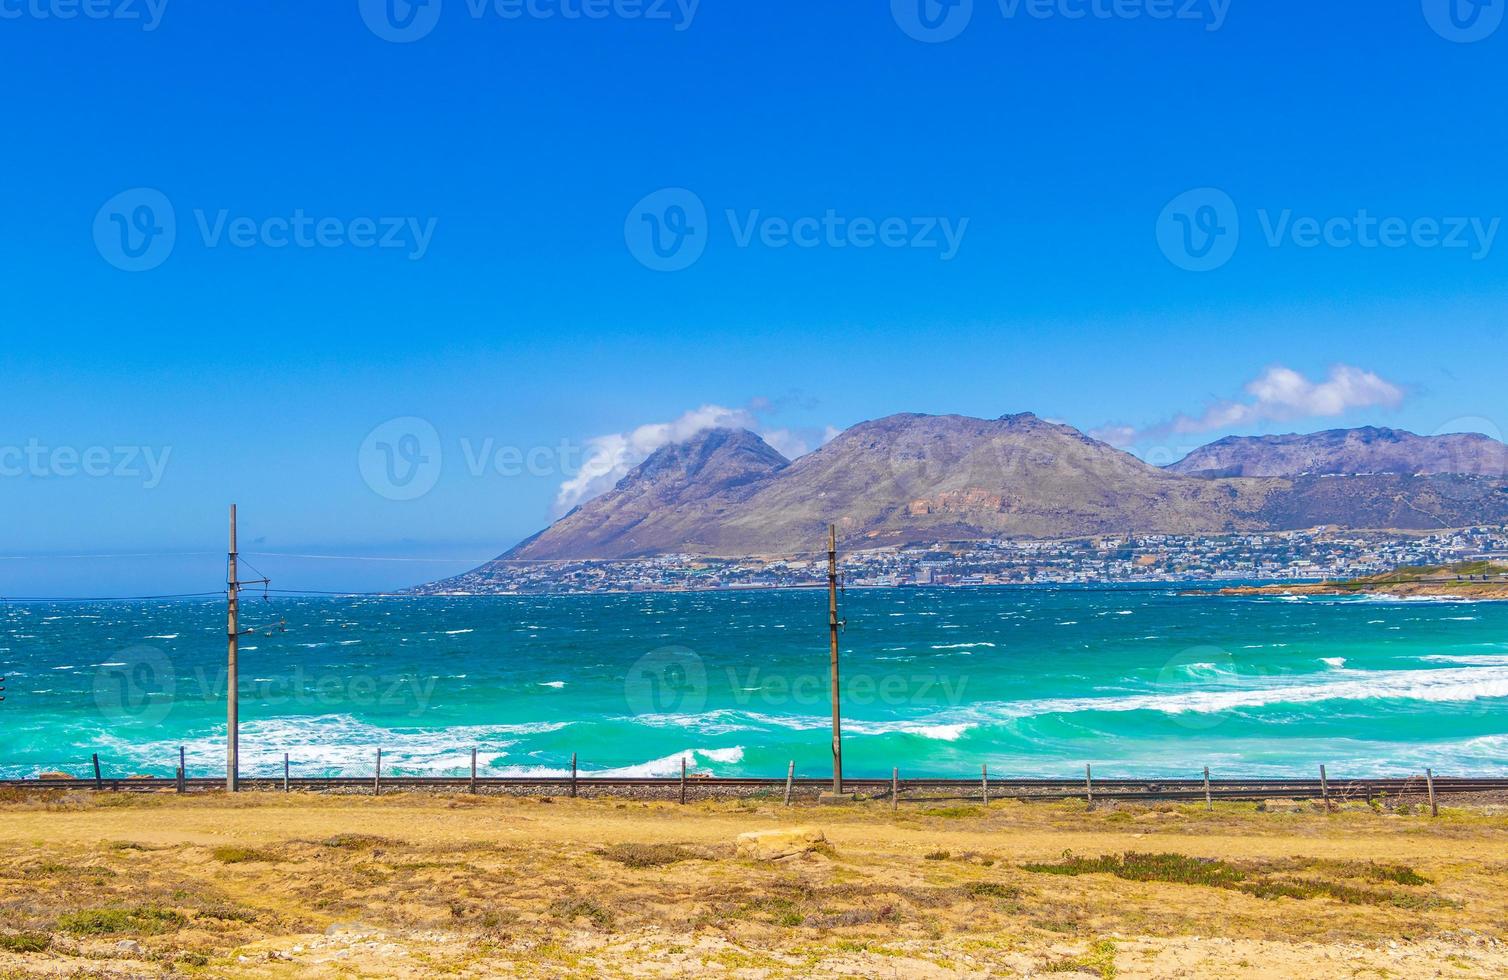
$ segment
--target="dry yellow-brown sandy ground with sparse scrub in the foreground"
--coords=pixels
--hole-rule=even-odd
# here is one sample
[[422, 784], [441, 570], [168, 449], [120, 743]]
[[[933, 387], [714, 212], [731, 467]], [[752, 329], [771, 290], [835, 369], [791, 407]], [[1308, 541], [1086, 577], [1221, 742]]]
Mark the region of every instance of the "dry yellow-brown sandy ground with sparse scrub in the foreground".
[[1508, 975], [1508, 811], [1294, 810], [14, 796], [0, 977]]

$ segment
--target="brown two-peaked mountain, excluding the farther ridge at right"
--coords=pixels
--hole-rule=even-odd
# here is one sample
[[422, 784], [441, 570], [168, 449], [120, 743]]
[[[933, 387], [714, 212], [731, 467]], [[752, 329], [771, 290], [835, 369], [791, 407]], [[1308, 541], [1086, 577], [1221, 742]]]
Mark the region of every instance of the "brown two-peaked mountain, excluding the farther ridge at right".
[[[730, 481], [722, 448], [734, 439], [763, 463]], [[1034, 415], [896, 415], [789, 466], [754, 443], [765, 446], [751, 433], [718, 430], [661, 449], [507, 558], [802, 553], [831, 520], [844, 540], [870, 544], [1240, 531], [1265, 526], [1262, 510], [1286, 487], [1167, 473]], [[689, 467], [688, 457], [707, 463]]]

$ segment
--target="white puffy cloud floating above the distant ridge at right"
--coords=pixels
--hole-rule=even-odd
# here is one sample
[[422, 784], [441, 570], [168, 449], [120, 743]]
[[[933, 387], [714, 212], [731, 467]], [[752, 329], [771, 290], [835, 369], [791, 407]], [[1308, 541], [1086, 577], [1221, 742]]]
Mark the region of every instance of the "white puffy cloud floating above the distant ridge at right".
[[1129, 425], [1107, 425], [1090, 433], [1114, 446], [1134, 446], [1148, 439], [1169, 434], [1212, 433], [1249, 428], [1261, 422], [1294, 422], [1329, 419], [1357, 409], [1396, 409], [1405, 392], [1383, 377], [1336, 365], [1329, 377], [1312, 381], [1292, 368], [1274, 365], [1246, 384], [1247, 398], [1215, 401], [1202, 415], [1178, 415], [1145, 430]]

